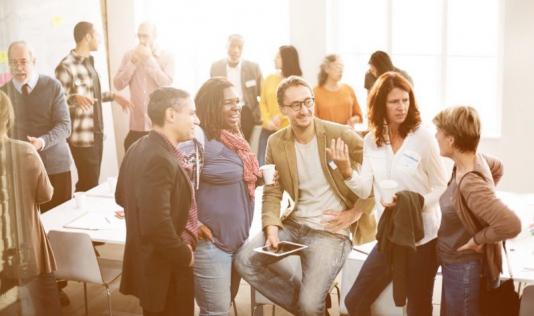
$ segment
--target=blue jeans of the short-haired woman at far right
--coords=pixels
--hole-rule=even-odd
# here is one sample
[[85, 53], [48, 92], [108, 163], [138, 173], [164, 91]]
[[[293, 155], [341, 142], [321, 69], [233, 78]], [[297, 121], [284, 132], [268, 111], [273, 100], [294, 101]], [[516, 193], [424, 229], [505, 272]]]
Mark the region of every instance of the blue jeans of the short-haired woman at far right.
[[441, 316], [478, 316], [481, 263], [478, 260], [441, 265]]

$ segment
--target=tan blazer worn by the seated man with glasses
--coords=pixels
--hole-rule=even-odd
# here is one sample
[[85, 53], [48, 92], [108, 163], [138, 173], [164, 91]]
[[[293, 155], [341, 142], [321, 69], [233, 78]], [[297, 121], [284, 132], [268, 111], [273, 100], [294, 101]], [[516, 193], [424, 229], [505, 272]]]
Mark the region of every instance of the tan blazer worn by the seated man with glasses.
[[[338, 169], [332, 170], [327, 164], [326, 144], [332, 139], [341, 137], [349, 146], [352, 167], [356, 168], [362, 162], [363, 140], [348, 126], [339, 125], [320, 119], [314, 119], [319, 159], [326, 179], [337, 196], [345, 203], [347, 208], [353, 206], [363, 211], [362, 217], [351, 226], [352, 241], [362, 244], [375, 239], [376, 220], [373, 214], [374, 197], [360, 199], [352, 192], [343, 180]], [[267, 144], [266, 164], [274, 164], [278, 170], [278, 185], [265, 186], [263, 191], [262, 223], [263, 227], [276, 225], [283, 227], [283, 220], [295, 208], [299, 200], [299, 183], [297, 174], [297, 156], [295, 153], [295, 139], [291, 127], [286, 127], [269, 137]], [[291, 197], [290, 205], [280, 218], [280, 202], [282, 194], [286, 191]]]

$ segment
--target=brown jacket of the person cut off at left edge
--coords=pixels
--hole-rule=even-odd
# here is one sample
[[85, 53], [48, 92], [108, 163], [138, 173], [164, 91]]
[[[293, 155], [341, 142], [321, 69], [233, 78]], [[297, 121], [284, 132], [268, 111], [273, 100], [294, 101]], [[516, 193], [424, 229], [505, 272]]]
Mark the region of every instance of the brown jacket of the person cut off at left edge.
[[54, 192], [43, 162], [32, 145], [13, 139], [0, 144], [0, 156], [2, 163], [5, 159], [7, 176], [1, 176], [0, 185], [2, 191], [7, 188], [7, 200], [0, 205], [0, 210], [7, 207], [2, 212], [7, 222], [4, 237], [13, 238], [7, 242], [8, 248], [21, 254], [25, 276], [53, 272], [54, 255], [39, 217], [39, 205], [48, 202]]

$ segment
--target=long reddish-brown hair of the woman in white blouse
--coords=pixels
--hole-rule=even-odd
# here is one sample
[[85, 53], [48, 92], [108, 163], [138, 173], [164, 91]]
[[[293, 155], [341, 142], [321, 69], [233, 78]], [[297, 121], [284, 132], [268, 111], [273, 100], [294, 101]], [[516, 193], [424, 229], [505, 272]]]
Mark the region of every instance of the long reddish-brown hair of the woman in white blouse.
[[369, 91], [367, 101], [369, 113], [369, 127], [374, 132], [376, 145], [378, 147], [386, 144], [384, 134], [387, 132], [387, 97], [394, 88], [399, 88], [408, 92], [410, 96], [410, 107], [408, 108], [408, 115], [402, 124], [399, 126], [399, 133], [401, 137], [406, 137], [408, 133], [416, 130], [421, 124], [421, 114], [415, 102], [415, 96], [412, 86], [401, 74], [388, 71], [378, 77], [375, 84]]

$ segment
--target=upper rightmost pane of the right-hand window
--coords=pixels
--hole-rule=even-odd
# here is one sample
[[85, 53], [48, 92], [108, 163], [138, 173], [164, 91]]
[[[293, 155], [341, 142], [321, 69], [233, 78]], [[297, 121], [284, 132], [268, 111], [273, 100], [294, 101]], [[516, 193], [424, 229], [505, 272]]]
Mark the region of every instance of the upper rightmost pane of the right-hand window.
[[448, 55], [496, 56], [498, 0], [448, 0]]

